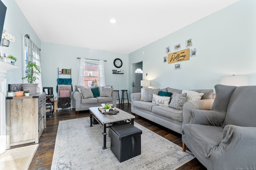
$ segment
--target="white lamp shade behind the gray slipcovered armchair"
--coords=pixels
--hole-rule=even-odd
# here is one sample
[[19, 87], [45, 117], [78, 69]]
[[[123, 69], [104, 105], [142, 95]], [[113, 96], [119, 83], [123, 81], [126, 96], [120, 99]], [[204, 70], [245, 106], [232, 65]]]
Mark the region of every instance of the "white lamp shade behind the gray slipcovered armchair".
[[247, 76], [224, 76], [221, 77], [221, 84], [227, 86], [248, 86]]

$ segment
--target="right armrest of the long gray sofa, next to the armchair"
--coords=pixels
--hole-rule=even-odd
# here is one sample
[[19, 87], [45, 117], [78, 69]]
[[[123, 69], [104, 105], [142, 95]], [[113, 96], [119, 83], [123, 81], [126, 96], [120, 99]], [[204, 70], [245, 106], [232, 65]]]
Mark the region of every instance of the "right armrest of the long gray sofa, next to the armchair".
[[192, 109], [210, 110], [212, 108], [213, 102], [214, 99], [194, 100], [185, 102], [182, 109], [182, 128], [183, 125], [190, 122]]

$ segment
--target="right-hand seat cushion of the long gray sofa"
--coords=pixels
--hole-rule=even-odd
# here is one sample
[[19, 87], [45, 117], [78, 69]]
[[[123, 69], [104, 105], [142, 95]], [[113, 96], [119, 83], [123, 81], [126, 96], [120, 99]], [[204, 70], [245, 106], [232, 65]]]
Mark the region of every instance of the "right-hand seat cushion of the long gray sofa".
[[153, 106], [152, 112], [175, 121], [182, 121], [182, 110], [177, 110], [172, 107]]

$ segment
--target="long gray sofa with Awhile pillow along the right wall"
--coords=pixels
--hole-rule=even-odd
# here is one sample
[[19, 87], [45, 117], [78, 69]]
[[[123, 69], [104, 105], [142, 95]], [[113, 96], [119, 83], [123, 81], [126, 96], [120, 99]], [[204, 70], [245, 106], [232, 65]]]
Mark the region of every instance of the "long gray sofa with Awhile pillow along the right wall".
[[[173, 88], [160, 89], [160, 91], [171, 92], [172, 94], [174, 94], [174, 92], [178, 94], [182, 93], [182, 90]], [[185, 102], [182, 110], [177, 110], [172, 107], [158, 106], [152, 102], [141, 101], [141, 93], [133, 93], [131, 94], [131, 111], [136, 115], [182, 134], [182, 126], [190, 121], [190, 111], [192, 109], [211, 109], [214, 101], [212, 89], [193, 91], [204, 93], [204, 95], [201, 100]]]

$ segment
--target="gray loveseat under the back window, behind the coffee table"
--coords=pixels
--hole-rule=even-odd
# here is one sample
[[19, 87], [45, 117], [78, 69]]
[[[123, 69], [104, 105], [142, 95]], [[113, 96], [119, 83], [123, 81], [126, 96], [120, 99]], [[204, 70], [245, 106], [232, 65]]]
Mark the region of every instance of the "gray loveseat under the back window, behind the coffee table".
[[[85, 88], [84, 86], [76, 86], [76, 91], [73, 93], [73, 98], [75, 100], [76, 112], [82, 110], [89, 110], [89, 107], [101, 106], [101, 104], [113, 104], [116, 107], [116, 97], [117, 92], [112, 91], [111, 97], [93, 97], [84, 99], [78, 88]], [[99, 87], [99, 92], [101, 94], [101, 87]]]

